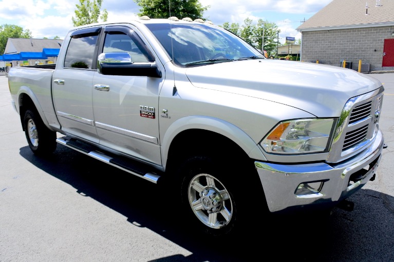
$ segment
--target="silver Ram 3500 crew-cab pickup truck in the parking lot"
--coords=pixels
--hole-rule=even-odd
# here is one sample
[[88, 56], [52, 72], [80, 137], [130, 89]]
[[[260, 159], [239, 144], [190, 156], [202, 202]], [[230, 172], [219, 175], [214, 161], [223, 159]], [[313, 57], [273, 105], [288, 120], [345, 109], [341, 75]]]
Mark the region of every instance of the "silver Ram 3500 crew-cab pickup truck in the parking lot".
[[34, 154], [61, 144], [161, 184], [176, 219], [215, 236], [332, 209], [375, 178], [384, 145], [378, 80], [267, 59], [203, 21], [72, 28], [55, 66], [8, 78]]

